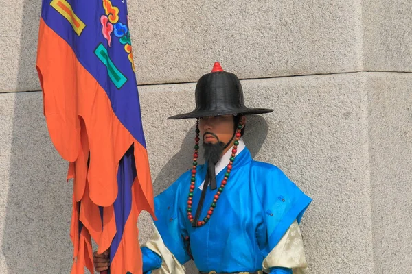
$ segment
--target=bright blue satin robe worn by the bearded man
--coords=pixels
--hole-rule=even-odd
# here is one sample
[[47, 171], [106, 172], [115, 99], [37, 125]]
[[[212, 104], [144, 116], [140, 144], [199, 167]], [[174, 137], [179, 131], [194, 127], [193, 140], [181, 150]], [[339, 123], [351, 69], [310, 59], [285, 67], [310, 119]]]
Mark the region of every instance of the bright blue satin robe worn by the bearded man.
[[[201, 197], [198, 186], [205, 179], [206, 169], [207, 164], [196, 169], [193, 216]], [[218, 186], [225, 172], [226, 169], [223, 169], [216, 175]], [[279, 168], [253, 160], [245, 148], [233, 162], [227, 185], [211, 219], [202, 227], [192, 227], [187, 219], [191, 175], [191, 170], [183, 173], [174, 184], [155, 197], [155, 225], [165, 246], [181, 264], [190, 260], [185, 240], [189, 236], [194, 262], [204, 272], [261, 270], [264, 258], [293, 221], [300, 223], [312, 201]], [[199, 220], [207, 215], [216, 191], [207, 188]], [[155, 268], [156, 264], [159, 267], [159, 258], [144, 250], [145, 269]], [[291, 271], [275, 268], [271, 273]]]

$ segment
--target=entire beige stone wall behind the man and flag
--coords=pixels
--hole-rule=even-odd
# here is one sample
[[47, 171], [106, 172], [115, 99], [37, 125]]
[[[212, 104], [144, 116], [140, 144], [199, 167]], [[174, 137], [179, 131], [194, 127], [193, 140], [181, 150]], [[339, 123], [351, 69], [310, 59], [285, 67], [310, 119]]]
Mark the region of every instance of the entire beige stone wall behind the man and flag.
[[[41, 3], [0, 3], [13, 23], [0, 28], [0, 273], [69, 273], [71, 184], [35, 69]], [[192, 110], [218, 60], [247, 105], [275, 109], [249, 118], [252, 154], [314, 199], [301, 224], [308, 274], [412, 273], [410, 1], [128, 5], [156, 194], [192, 153], [194, 121], [166, 118]]]

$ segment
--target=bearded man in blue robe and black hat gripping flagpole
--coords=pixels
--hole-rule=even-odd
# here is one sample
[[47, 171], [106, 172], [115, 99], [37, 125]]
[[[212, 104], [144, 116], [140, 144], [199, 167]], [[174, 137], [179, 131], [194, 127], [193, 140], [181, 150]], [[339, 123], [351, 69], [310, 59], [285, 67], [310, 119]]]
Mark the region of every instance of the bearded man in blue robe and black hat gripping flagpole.
[[[238, 77], [218, 62], [195, 97], [192, 112], [170, 117], [196, 119], [192, 169], [155, 198], [144, 273], [185, 273], [189, 260], [202, 274], [304, 273], [299, 223], [312, 200], [279, 168], [253, 160], [242, 140], [245, 115], [273, 110], [247, 108]], [[95, 254], [97, 271], [107, 262]]]

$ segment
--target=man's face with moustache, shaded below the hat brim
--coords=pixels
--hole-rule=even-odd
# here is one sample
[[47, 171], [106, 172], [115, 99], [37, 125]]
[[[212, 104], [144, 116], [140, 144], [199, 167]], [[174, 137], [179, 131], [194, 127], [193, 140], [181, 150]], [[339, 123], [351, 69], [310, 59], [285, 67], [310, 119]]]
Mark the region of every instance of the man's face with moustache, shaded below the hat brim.
[[226, 145], [235, 130], [233, 115], [203, 117], [199, 119], [199, 130], [203, 142], [211, 144], [223, 142]]

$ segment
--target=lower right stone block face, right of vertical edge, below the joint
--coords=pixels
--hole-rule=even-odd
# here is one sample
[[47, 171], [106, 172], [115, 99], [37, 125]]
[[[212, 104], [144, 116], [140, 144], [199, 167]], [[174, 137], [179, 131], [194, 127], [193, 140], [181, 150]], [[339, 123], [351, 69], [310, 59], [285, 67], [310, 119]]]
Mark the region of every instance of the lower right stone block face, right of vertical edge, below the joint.
[[367, 79], [374, 273], [412, 273], [412, 74]]

